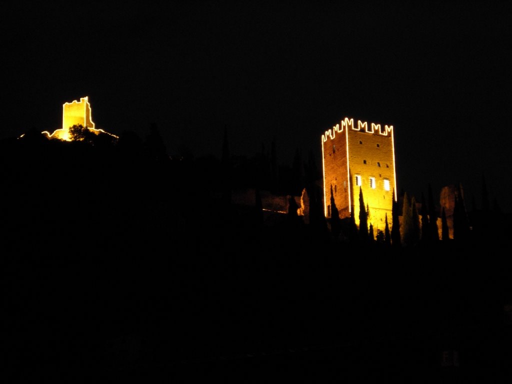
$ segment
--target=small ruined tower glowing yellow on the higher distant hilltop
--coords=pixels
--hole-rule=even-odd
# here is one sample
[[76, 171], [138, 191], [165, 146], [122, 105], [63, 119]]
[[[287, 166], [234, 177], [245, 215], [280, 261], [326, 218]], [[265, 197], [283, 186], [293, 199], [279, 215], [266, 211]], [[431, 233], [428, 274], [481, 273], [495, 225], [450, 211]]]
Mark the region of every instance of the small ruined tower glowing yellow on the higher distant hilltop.
[[46, 134], [50, 139], [72, 141], [73, 138], [70, 136], [69, 129], [73, 125], [81, 125], [83, 127], [87, 127], [89, 131], [96, 135], [104, 133], [118, 139], [116, 135], [100, 129], [95, 129], [95, 124], [91, 118], [91, 104], [89, 104], [88, 96], [80, 97], [80, 101], [73, 100], [72, 102], [63, 103], [62, 128], [53, 131], [51, 134], [48, 131], [44, 131], [42, 133]]

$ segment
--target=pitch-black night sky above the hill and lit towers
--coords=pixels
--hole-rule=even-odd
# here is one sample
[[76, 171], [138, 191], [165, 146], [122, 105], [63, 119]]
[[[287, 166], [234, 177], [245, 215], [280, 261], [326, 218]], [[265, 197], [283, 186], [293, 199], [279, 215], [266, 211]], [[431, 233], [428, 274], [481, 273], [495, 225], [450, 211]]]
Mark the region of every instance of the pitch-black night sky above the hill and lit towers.
[[[507, 2], [17, 2], [2, 5], [1, 136], [60, 127], [89, 96], [96, 127], [170, 154], [321, 156], [344, 117], [392, 124], [398, 187], [461, 182], [507, 201], [512, 166]], [[319, 163], [321, 164], [321, 163]]]

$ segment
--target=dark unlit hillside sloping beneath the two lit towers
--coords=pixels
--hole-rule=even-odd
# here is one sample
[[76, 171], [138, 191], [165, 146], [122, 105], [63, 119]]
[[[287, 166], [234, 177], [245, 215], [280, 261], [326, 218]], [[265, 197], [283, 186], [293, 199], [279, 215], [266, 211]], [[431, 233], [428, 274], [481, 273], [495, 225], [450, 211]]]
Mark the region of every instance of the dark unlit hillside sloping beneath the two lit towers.
[[487, 202], [468, 213], [458, 190], [443, 241], [417, 232], [418, 212], [440, 218], [439, 206], [399, 194], [397, 215], [413, 212], [412, 232], [399, 230], [416, 237], [393, 246], [392, 229], [357, 236], [354, 222], [323, 217], [313, 162], [236, 158], [225, 140], [221, 159], [167, 155], [156, 125], [115, 141], [34, 130], [0, 143], [9, 374], [502, 373], [507, 216]]

